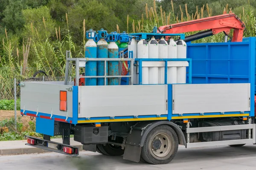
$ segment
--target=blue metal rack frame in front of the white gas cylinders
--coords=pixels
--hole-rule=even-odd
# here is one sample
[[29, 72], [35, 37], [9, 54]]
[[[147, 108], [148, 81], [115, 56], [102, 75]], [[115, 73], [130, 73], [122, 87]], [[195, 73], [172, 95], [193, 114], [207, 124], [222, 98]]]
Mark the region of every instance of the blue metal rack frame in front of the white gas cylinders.
[[187, 61], [189, 62], [189, 81], [188, 84], [192, 83], [192, 59], [186, 58], [186, 59], [140, 59], [136, 58], [134, 61], [139, 62], [139, 85], [142, 85], [142, 62], [143, 61], [164, 61], [165, 62], [165, 84], [167, 84], [167, 62], [168, 61]]

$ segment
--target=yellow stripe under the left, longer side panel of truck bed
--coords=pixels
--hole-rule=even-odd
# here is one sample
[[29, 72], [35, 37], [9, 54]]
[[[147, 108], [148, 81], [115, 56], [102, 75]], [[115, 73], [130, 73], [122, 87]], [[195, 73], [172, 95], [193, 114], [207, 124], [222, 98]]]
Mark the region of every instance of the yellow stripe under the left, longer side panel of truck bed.
[[167, 117], [131, 118], [131, 119], [102, 119], [102, 120], [79, 120], [78, 123], [99, 123], [99, 122], [126, 122], [143, 120], [167, 120]]

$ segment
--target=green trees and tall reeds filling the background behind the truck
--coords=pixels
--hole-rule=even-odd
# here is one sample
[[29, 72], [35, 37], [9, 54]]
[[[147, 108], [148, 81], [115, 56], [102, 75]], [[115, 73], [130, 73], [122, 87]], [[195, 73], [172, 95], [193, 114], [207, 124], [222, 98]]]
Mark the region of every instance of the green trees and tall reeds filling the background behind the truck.
[[[84, 57], [84, 30], [151, 32], [154, 26], [223, 11], [244, 21], [244, 37], [256, 36], [255, 0], [2, 0], [0, 99], [13, 99], [15, 77], [30, 78], [38, 70], [53, 79], [64, 77], [66, 50], [72, 57]], [[221, 42], [223, 36], [195, 42]]]

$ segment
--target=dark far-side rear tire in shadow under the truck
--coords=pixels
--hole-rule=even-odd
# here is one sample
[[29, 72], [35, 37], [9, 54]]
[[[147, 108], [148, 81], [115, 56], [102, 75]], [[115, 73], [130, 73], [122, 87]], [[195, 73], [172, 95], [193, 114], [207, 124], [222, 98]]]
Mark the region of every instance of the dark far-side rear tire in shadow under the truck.
[[122, 147], [112, 144], [97, 144], [96, 150], [97, 148], [99, 150], [97, 152], [108, 156], [121, 156], [125, 152], [125, 150], [122, 150]]

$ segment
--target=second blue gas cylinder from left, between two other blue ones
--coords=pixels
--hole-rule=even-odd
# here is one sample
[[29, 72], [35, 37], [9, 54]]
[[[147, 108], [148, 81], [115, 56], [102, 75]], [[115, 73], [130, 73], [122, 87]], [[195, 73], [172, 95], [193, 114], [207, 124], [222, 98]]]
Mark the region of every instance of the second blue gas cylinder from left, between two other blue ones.
[[[107, 38], [107, 31], [101, 29], [98, 31], [98, 39], [97, 42], [97, 58], [108, 58], [108, 42], [105, 40]], [[106, 75], [108, 76], [108, 62], [106, 62], [106, 69], [105, 69], [105, 62], [104, 61], [97, 61], [97, 76], [104, 76], [106, 70]], [[108, 85], [108, 79], [105, 78], [97, 78], [97, 85]]]

